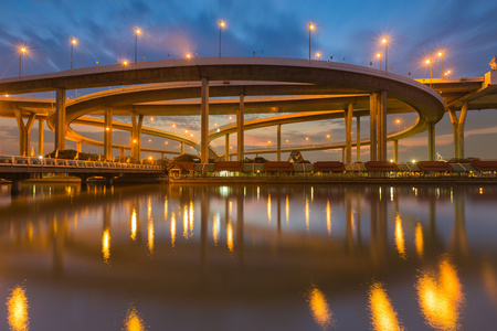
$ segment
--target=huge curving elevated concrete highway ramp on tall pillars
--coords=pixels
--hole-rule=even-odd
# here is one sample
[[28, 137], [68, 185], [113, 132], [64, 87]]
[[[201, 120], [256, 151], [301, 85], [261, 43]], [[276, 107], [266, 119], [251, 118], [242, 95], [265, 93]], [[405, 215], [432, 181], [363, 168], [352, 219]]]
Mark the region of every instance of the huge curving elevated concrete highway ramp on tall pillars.
[[[47, 118], [49, 127], [56, 132], [56, 146], [63, 147], [65, 138], [84, 143], [104, 146], [106, 158], [112, 154], [112, 148], [117, 147], [112, 142], [112, 130], [121, 129], [112, 121], [113, 116], [127, 115], [138, 117], [136, 125], [130, 128], [137, 143], [131, 143], [131, 156], [139, 159], [140, 134], [156, 134], [156, 129], [142, 128], [139, 117], [169, 116], [169, 115], [200, 115], [201, 140], [200, 143], [191, 140], [182, 141], [194, 146], [201, 151], [202, 161], [208, 161], [212, 156], [209, 141], [218, 136], [225, 137], [231, 132], [237, 132], [237, 158], [243, 159], [243, 132], [246, 129], [275, 125], [281, 129], [285, 122], [299, 121], [298, 115], [279, 118], [271, 122], [246, 122], [244, 114], [254, 113], [292, 113], [308, 111], [321, 113], [321, 116], [330, 116], [325, 111], [338, 110], [332, 116], [341, 116], [346, 125], [346, 139], [343, 142], [346, 160], [351, 161], [351, 148], [360, 145], [370, 145], [371, 160], [385, 160], [387, 140], [398, 141], [401, 138], [429, 130], [429, 159], [434, 159], [434, 124], [438, 121], [445, 110], [445, 103], [450, 103], [454, 113], [458, 107], [462, 110], [459, 119], [453, 120], [457, 126], [457, 156], [462, 156], [461, 148], [464, 139], [465, 111], [482, 106], [484, 89], [493, 88], [495, 75], [489, 75], [485, 82], [478, 79], [466, 79], [466, 82], [444, 79], [435, 82], [434, 90], [423, 85], [426, 82], [414, 82], [413, 79], [378, 70], [360, 67], [340, 63], [327, 63], [321, 61], [302, 61], [285, 58], [197, 58], [159, 61], [139, 63], [133, 68], [124, 70], [123, 66], [106, 66], [98, 68], [76, 70], [73, 73], [62, 72], [47, 75], [28, 76], [21, 78], [0, 79], [0, 93], [28, 93], [56, 90], [56, 103], [54, 111], [47, 110], [44, 115], [35, 117]], [[440, 79], [442, 81], [442, 79]], [[77, 100], [64, 100], [65, 90], [72, 88], [121, 86], [129, 84], [148, 84], [147, 86], [134, 86], [123, 89], [110, 89], [81, 97]], [[160, 83], [160, 84], [157, 84]], [[495, 83], [495, 82], [494, 82]], [[438, 90], [440, 89], [440, 90]], [[442, 97], [437, 94], [442, 93]], [[470, 97], [477, 95], [477, 97]], [[298, 96], [302, 96], [298, 98]], [[236, 97], [236, 99], [225, 99]], [[266, 99], [264, 99], [266, 98]], [[253, 99], [253, 100], [251, 100]], [[21, 102], [19, 102], [21, 103]], [[496, 100], [486, 100], [485, 106], [494, 106]], [[479, 106], [478, 106], [479, 105]], [[0, 103], [0, 111], [2, 105]], [[36, 107], [28, 102], [22, 106], [11, 108], [22, 109], [18, 118], [20, 131], [29, 135], [30, 114], [29, 107]], [[21, 108], [24, 107], [24, 108]], [[53, 105], [51, 105], [53, 107]], [[242, 110], [243, 109], [243, 110]], [[305, 110], [305, 111], [304, 111]], [[387, 137], [387, 114], [417, 111], [419, 119], [409, 129], [400, 135]], [[18, 111], [19, 113], [19, 111]], [[28, 116], [27, 116], [28, 114]], [[105, 114], [106, 120], [98, 124], [104, 128], [104, 142], [92, 141], [70, 128], [71, 124], [81, 124], [82, 116], [87, 114]], [[224, 128], [220, 132], [209, 132], [209, 116], [212, 114], [236, 114], [236, 125]], [[243, 115], [242, 115], [243, 114]], [[49, 116], [50, 115], [50, 116]], [[24, 125], [22, 118], [28, 118]], [[317, 118], [317, 115], [315, 115]], [[369, 140], [360, 141], [358, 136], [356, 142], [351, 139], [351, 119], [361, 116], [370, 117]], [[451, 115], [451, 118], [454, 116]], [[334, 118], [334, 117], [328, 117]], [[456, 118], [456, 117], [455, 117]], [[279, 120], [279, 121], [278, 121]], [[93, 122], [95, 125], [95, 122]], [[24, 125], [24, 129], [22, 128]], [[219, 134], [219, 135], [218, 135]], [[162, 136], [167, 136], [162, 132]], [[463, 136], [463, 139], [461, 139]], [[24, 136], [25, 137], [25, 134]], [[175, 137], [170, 134], [169, 137]], [[455, 129], [456, 137], [456, 129]], [[22, 139], [21, 139], [22, 140]], [[25, 139], [24, 139], [25, 140]], [[279, 141], [279, 139], [277, 139]], [[394, 142], [395, 143], [395, 142]], [[340, 145], [340, 143], [338, 143]], [[21, 143], [22, 150], [27, 152], [29, 146]], [[340, 145], [341, 146], [341, 145]], [[337, 148], [339, 148], [337, 146]], [[456, 149], [456, 147], [455, 147]], [[281, 145], [277, 146], [281, 151]], [[228, 153], [226, 153], [228, 154]], [[464, 154], [464, 152], [463, 152]]]

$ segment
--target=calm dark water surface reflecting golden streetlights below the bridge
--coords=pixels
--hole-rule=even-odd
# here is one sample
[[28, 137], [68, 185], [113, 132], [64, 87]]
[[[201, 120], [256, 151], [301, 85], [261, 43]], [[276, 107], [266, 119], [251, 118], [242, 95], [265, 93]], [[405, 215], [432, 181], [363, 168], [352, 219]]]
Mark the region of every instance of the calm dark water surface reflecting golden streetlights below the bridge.
[[[0, 329], [51, 330], [55, 318], [66, 330], [115, 329], [126, 307], [127, 330], [144, 330], [142, 317], [154, 330], [497, 323], [493, 186], [81, 192], [36, 184], [32, 192], [0, 207], [0, 297], [8, 302]], [[30, 289], [15, 292], [24, 303], [9, 303], [14, 290], [7, 290], [21, 282]], [[80, 303], [57, 303], [64, 300]], [[25, 328], [14, 329], [11, 316], [22, 307]]]

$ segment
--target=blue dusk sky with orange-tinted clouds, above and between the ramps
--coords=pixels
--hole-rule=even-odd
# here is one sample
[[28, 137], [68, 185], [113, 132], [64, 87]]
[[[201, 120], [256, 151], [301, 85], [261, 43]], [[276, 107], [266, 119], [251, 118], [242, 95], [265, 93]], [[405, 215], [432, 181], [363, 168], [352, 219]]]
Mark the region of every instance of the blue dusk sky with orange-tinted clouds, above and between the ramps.
[[[142, 31], [138, 41], [139, 61], [184, 57], [187, 52], [199, 57], [218, 56], [219, 21], [226, 22], [222, 32], [223, 56], [308, 56], [308, 29], [313, 22], [311, 50], [336, 62], [378, 67], [374, 54], [381, 51], [379, 40], [389, 36], [389, 66], [393, 72], [421, 78], [429, 71], [423, 60], [444, 50], [444, 68], [452, 77], [476, 77], [489, 71], [488, 63], [497, 54], [497, 2], [467, 0], [419, 1], [277, 1], [277, 0], [169, 0], [169, 1], [0, 1], [0, 77], [19, 73], [19, 46], [27, 45], [22, 74], [65, 71], [71, 65], [71, 38], [77, 39], [74, 67], [116, 64], [134, 60], [135, 28]], [[440, 63], [433, 66], [440, 77]], [[68, 95], [71, 93], [68, 92]], [[402, 117], [408, 124], [415, 115]], [[250, 119], [250, 117], [247, 118]], [[19, 151], [18, 129], [13, 119], [0, 119], [0, 152]], [[118, 119], [124, 120], [124, 119]], [[213, 118], [211, 122], [225, 122]], [[171, 121], [199, 127], [197, 117], [160, 118], [154, 126], [167, 129]], [[368, 137], [364, 119], [362, 137]], [[149, 122], [145, 122], [149, 125]], [[161, 127], [162, 126], [162, 127]], [[76, 127], [75, 127], [76, 128]], [[389, 117], [389, 131], [396, 128]], [[355, 129], [355, 128], [353, 128]], [[77, 127], [89, 137], [102, 139], [101, 132]], [[324, 142], [326, 132], [334, 141], [345, 140], [343, 121], [284, 126], [283, 139]], [[45, 152], [51, 151], [53, 134], [46, 131]], [[114, 136], [117, 137], [117, 136]], [[436, 127], [436, 151], [453, 157], [452, 127], [446, 115]], [[466, 157], [497, 159], [497, 111], [470, 111], [466, 121]], [[255, 146], [276, 139], [276, 129], [247, 132], [246, 145]], [[152, 143], [163, 146], [158, 138]], [[144, 137], [142, 143], [148, 143]], [[235, 142], [235, 136], [232, 141]], [[31, 132], [36, 148], [38, 128]], [[223, 141], [214, 141], [222, 146]], [[68, 148], [75, 143], [68, 142]], [[86, 148], [84, 148], [86, 150]], [[88, 151], [102, 152], [96, 147]], [[363, 148], [369, 150], [369, 148]], [[391, 154], [391, 146], [389, 146]], [[115, 151], [117, 153], [117, 151]], [[341, 159], [340, 152], [307, 152], [309, 160]], [[367, 154], [363, 156], [368, 160]], [[269, 159], [273, 159], [269, 157]], [[427, 159], [426, 135], [400, 141], [400, 160]], [[353, 158], [355, 160], [355, 158]]]

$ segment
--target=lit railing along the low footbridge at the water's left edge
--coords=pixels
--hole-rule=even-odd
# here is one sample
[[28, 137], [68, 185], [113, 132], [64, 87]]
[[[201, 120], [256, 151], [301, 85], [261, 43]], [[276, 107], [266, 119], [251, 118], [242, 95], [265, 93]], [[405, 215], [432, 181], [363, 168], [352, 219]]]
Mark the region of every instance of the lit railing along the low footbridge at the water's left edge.
[[82, 161], [63, 159], [40, 159], [31, 157], [0, 156], [1, 167], [25, 167], [25, 168], [71, 168], [71, 169], [134, 169], [134, 170], [162, 170], [161, 166], [117, 163], [103, 161]]

